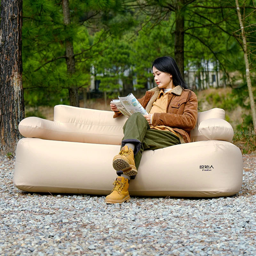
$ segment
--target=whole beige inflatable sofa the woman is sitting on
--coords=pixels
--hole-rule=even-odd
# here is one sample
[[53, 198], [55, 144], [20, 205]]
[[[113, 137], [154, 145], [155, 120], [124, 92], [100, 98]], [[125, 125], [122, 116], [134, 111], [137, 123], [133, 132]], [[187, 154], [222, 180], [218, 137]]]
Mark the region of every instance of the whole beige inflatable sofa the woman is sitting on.
[[[220, 108], [198, 114], [191, 143], [143, 152], [131, 196], [218, 197], [242, 186], [243, 161]], [[28, 192], [108, 195], [126, 117], [57, 105], [54, 121], [28, 117], [19, 131], [14, 185]]]

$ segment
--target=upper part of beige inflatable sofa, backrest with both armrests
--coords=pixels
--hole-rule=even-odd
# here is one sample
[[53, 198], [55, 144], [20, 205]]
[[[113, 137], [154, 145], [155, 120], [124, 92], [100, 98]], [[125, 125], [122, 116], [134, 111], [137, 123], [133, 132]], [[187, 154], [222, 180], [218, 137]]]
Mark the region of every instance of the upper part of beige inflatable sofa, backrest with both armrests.
[[[191, 141], [231, 141], [233, 129], [223, 120], [224, 117], [225, 111], [220, 108], [198, 113]], [[27, 138], [120, 145], [126, 120], [125, 116], [114, 119], [112, 111], [57, 105], [54, 107], [54, 122], [27, 117], [20, 122], [19, 131]]]

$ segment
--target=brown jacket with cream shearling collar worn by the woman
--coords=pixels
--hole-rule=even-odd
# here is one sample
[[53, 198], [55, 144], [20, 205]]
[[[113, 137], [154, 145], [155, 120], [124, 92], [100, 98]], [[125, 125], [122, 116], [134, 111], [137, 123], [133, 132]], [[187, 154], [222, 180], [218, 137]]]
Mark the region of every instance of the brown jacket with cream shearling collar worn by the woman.
[[[147, 91], [141, 99], [138, 99], [148, 113], [159, 93], [160, 89], [156, 86]], [[172, 89], [171, 93], [168, 93], [166, 113], [154, 113], [151, 125], [172, 127], [175, 132], [182, 136], [184, 142], [190, 142], [190, 131], [195, 128], [197, 121], [197, 104], [196, 94], [187, 89], [183, 90], [178, 85]], [[113, 117], [116, 118], [121, 115], [115, 113]]]

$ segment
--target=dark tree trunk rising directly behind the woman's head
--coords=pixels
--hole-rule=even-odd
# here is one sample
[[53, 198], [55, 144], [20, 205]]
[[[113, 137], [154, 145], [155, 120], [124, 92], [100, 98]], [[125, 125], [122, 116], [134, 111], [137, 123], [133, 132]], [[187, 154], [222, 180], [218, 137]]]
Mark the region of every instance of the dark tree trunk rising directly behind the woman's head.
[[179, 0], [175, 12], [175, 40], [174, 40], [174, 58], [180, 69], [181, 76], [184, 78], [184, 13], [181, 8], [184, 0]]

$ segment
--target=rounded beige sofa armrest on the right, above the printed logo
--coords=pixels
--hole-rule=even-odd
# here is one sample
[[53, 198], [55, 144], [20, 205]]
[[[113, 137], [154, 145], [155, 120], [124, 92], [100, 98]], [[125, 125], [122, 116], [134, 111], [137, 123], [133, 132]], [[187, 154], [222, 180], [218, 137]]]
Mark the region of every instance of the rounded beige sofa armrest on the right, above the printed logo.
[[231, 142], [234, 136], [231, 124], [220, 118], [210, 118], [202, 121], [198, 130], [208, 140], [225, 140]]

